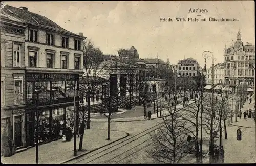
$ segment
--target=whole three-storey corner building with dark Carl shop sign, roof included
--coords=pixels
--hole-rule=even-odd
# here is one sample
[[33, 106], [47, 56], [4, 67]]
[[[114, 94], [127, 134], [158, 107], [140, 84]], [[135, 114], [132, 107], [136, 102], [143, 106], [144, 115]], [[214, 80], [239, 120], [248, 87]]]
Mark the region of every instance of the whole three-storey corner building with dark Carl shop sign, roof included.
[[[26, 22], [27, 26], [23, 45], [25, 80], [20, 80], [26, 89], [23, 92], [26, 104], [23, 146], [35, 144], [37, 121], [41, 141], [60, 137], [63, 128], [69, 125], [74, 96], [78, 96], [74, 89], [79, 88], [79, 76], [83, 74], [82, 45], [86, 37], [69, 32], [48, 18], [29, 12], [26, 7], [7, 5], [2, 10], [8, 17]], [[40, 114], [39, 117], [36, 114]]]

